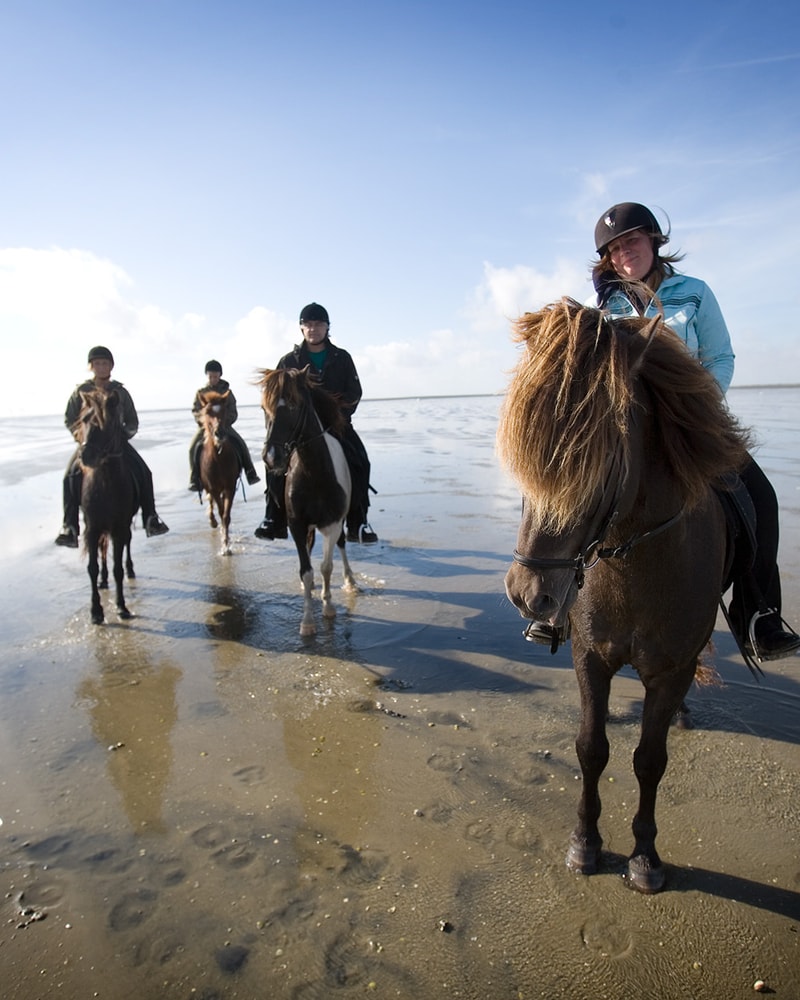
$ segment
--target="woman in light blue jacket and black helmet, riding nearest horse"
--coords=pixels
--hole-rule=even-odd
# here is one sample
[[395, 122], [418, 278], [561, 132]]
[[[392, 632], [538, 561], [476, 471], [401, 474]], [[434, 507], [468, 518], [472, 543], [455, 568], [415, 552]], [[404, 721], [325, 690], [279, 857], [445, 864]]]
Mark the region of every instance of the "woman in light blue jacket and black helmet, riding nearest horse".
[[[669, 241], [655, 215], [638, 202], [612, 205], [597, 222], [592, 267], [596, 304], [613, 317], [663, 315], [725, 393], [733, 377], [734, 353], [722, 310], [704, 281], [680, 274], [682, 254], [661, 254]], [[800, 636], [784, 628], [778, 572], [778, 500], [772, 484], [751, 458], [741, 478], [756, 509], [756, 553], [749, 577], [734, 583], [731, 624], [749, 644], [754, 624], [755, 654], [776, 660], [800, 649]], [[749, 586], [748, 586], [749, 582]], [[769, 609], [768, 613], [764, 610]], [[550, 642], [550, 626], [536, 623], [532, 638]], [[541, 639], [537, 633], [541, 632]]]

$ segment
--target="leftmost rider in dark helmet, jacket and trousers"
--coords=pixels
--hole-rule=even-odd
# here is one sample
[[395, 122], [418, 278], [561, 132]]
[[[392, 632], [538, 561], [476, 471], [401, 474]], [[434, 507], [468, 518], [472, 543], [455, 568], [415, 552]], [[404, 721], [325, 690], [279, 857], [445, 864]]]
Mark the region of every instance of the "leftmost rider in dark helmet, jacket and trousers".
[[[89, 351], [88, 361], [93, 378], [76, 386], [75, 391], [67, 401], [64, 423], [72, 431], [83, 406], [82, 392], [92, 392], [95, 389], [106, 393], [113, 391], [119, 396], [125, 434], [128, 439], [132, 438], [139, 430], [139, 417], [131, 394], [121, 382], [116, 382], [111, 378], [111, 369], [114, 367], [113, 354], [107, 347], [93, 347]], [[142, 523], [147, 537], [165, 534], [169, 528], [156, 513], [153, 475], [145, 460], [131, 445], [130, 440], [126, 440], [124, 457], [136, 485], [139, 506], [142, 511]], [[56, 545], [64, 545], [71, 549], [78, 547], [78, 510], [81, 503], [82, 485], [83, 472], [80, 465], [80, 452], [76, 451], [69, 461], [64, 476], [64, 525], [56, 537]]]

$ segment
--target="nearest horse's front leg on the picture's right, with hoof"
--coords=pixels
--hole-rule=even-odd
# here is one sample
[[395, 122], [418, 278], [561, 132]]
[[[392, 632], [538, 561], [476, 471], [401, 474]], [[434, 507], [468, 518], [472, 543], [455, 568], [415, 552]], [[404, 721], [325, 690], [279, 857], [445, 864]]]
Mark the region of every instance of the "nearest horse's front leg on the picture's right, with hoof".
[[681, 680], [674, 672], [645, 680], [642, 735], [633, 755], [633, 770], [639, 782], [639, 808], [633, 818], [636, 840], [628, 860], [628, 877], [639, 892], [659, 892], [664, 887], [664, 866], [656, 850], [656, 795], [667, 768], [667, 735], [692, 683], [695, 667]]

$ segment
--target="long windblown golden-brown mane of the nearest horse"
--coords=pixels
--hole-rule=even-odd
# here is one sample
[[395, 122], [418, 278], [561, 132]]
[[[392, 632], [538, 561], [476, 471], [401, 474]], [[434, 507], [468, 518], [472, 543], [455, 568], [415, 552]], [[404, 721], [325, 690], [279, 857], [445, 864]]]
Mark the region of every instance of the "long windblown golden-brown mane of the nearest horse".
[[746, 463], [749, 433], [714, 377], [658, 319], [612, 320], [564, 298], [521, 316], [513, 330], [524, 350], [497, 446], [543, 526], [577, 524], [614, 456], [628, 468], [630, 424], [643, 406], [687, 508]]

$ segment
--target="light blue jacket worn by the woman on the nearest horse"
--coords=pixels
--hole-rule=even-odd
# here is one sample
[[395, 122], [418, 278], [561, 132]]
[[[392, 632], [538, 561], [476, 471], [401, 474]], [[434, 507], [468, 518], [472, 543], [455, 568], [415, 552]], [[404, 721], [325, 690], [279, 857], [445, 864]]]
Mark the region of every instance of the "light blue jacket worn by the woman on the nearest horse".
[[[594, 300], [596, 305], [597, 299]], [[664, 311], [664, 322], [708, 369], [723, 392], [733, 378], [734, 353], [728, 327], [714, 293], [704, 281], [685, 274], [665, 278], [650, 300], [645, 316]], [[640, 315], [623, 292], [614, 292], [606, 306], [614, 317]]]

